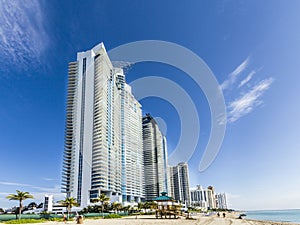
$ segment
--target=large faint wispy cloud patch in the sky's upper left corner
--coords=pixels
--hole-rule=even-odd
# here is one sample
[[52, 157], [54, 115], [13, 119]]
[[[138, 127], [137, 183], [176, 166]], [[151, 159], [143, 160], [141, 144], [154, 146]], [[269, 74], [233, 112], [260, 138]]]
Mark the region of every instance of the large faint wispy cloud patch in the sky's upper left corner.
[[0, 65], [26, 70], [37, 66], [48, 39], [40, 1], [0, 0]]

